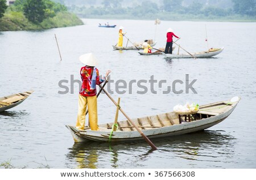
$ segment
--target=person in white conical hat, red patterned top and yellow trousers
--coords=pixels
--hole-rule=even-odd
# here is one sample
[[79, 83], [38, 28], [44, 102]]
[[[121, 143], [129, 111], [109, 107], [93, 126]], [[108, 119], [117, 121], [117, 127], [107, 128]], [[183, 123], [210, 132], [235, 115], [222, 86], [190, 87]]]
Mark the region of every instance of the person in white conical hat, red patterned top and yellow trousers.
[[81, 67], [80, 75], [82, 86], [79, 92], [79, 110], [77, 114], [76, 128], [84, 130], [85, 112], [88, 106], [90, 128], [93, 131], [98, 131], [98, 113], [97, 113], [97, 91], [96, 84], [104, 82], [105, 77], [109, 75], [110, 70], [106, 72], [103, 79], [100, 79], [98, 69], [96, 68], [97, 59], [92, 53], [84, 54], [79, 57], [79, 60], [85, 64]]

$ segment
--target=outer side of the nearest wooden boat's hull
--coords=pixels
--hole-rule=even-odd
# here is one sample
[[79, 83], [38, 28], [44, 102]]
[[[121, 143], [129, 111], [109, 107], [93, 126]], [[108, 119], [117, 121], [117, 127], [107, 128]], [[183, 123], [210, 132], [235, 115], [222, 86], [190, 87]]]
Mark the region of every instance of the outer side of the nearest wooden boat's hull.
[[[177, 125], [151, 128], [149, 130], [142, 130], [143, 134], [148, 138], [162, 138], [168, 136], [176, 136], [182, 134], [188, 134], [191, 132], [203, 131], [209, 127], [217, 125], [218, 123], [224, 121], [236, 108], [237, 103], [230, 106], [229, 110], [219, 115], [200, 119], [192, 122], [184, 122]], [[88, 142], [88, 141], [98, 141], [98, 142], [108, 142], [110, 131], [77, 131], [73, 126], [66, 126], [73, 136], [75, 142]], [[142, 140], [143, 137], [138, 131], [115, 131], [112, 134], [112, 142], [126, 142]]]

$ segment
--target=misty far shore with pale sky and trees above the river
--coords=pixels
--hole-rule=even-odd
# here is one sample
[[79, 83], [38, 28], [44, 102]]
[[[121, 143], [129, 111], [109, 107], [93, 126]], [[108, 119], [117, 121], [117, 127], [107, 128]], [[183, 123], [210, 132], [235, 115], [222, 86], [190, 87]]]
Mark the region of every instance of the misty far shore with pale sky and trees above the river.
[[256, 0], [55, 0], [80, 18], [255, 20]]

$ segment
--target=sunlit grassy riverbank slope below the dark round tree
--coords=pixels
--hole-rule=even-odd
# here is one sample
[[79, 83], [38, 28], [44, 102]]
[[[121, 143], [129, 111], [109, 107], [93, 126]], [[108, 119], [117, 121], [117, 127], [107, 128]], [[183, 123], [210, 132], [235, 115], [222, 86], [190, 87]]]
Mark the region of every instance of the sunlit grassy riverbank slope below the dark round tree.
[[82, 24], [82, 20], [71, 12], [58, 12], [53, 18], [47, 18], [42, 23], [35, 24], [28, 21], [23, 12], [7, 11], [0, 19], [0, 31], [49, 29]]

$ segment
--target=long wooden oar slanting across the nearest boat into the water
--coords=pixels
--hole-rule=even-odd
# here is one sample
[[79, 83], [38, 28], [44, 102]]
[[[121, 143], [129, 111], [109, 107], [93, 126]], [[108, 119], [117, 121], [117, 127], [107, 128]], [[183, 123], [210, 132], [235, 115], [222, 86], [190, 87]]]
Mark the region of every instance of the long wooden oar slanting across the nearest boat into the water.
[[[115, 100], [109, 95], [109, 93], [107, 91], [105, 91], [105, 89], [101, 85], [98, 85], [98, 86], [106, 93], [106, 95], [110, 98], [110, 100], [112, 100], [112, 102], [115, 104], [115, 106], [117, 106], [117, 102], [115, 102]], [[136, 130], [141, 134], [141, 136], [146, 140], [146, 142], [151, 146], [151, 148], [156, 150], [157, 148], [155, 147], [155, 145], [150, 141], [150, 139], [147, 138], [146, 135], [143, 134], [143, 132], [138, 128], [138, 126], [135, 125], [135, 123], [133, 121], [131, 121], [131, 119], [123, 111], [123, 109], [121, 107], [119, 107], [119, 110], [123, 113], [123, 115], [125, 115], [127, 120], [136, 128]]]

